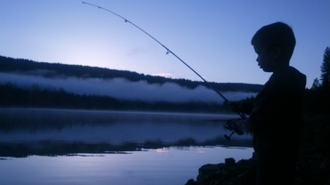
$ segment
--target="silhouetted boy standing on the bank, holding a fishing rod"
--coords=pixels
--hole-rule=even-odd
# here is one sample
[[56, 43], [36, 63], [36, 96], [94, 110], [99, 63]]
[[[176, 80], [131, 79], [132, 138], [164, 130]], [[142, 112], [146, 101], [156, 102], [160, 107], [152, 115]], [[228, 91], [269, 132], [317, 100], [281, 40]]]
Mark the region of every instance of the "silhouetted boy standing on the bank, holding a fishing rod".
[[257, 184], [293, 184], [303, 126], [306, 76], [289, 65], [295, 37], [283, 22], [252, 37], [262, 70], [273, 73], [257, 95], [248, 119], [257, 160]]

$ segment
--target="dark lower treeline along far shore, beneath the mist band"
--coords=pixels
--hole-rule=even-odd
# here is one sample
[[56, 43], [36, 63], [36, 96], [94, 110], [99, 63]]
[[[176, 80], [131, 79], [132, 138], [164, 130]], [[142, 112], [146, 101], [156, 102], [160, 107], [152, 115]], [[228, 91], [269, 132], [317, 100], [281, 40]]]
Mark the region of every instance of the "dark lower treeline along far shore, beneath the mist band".
[[0, 107], [36, 107], [61, 109], [114, 109], [221, 112], [222, 105], [203, 102], [146, 102], [122, 101], [109, 96], [80, 95], [64, 90], [42, 89], [37, 85], [31, 89], [15, 84], [0, 84]]

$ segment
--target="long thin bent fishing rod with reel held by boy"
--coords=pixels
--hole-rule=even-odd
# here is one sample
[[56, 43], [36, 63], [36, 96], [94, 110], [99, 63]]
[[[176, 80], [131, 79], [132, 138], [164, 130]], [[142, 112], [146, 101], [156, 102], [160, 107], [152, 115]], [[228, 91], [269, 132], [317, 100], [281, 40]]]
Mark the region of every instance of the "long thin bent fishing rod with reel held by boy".
[[[158, 44], [160, 44], [163, 48], [165, 48], [166, 50], [166, 54], [171, 53], [174, 57], [177, 58], [177, 60], [180, 60], [187, 68], [191, 69], [194, 74], [196, 74], [197, 76], [199, 76], [202, 81], [206, 84], [206, 86], [208, 86], [209, 88], [211, 88], [215, 93], [218, 93], [218, 95], [224, 100], [224, 104], [227, 105], [227, 103], [229, 102], [228, 99], [218, 91], [218, 89], [216, 89], [215, 87], [213, 87], [212, 85], [210, 85], [210, 83], [208, 81], [205, 80], [205, 78], [203, 78], [199, 73], [197, 73], [197, 71], [194, 70], [194, 68], [190, 67], [186, 61], [182, 60], [181, 58], [179, 58], [177, 56], [176, 53], [172, 52], [167, 46], [165, 46], [164, 44], [162, 44], [159, 40], [157, 40], [155, 37], [153, 37], [152, 35], [150, 35], [148, 32], [146, 32], [143, 28], [138, 27], [135, 23], [133, 23], [132, 21], [124, 18], [123, 16], [121, 16], [120, 14], [116, 13], [116, 12], [112, 12], [111, 10], [107, 9], [107, 8], [103, 8], [102, 6], [96, 5], [96, 4], [90, 4], [87, 2], [82, 2], [82, 4], [87, 4], [90, 6], [94, 6], [95, 8], [98, 8], [100, 10], [106, 11], [106, 12], [111, 12], [113, 15], [119, 17], [120, 19], [124, 20], [125, 22], [128, 22], [129, 24], [131, 24], [132, 26], [134, 26], [135, 28], [139, 29], [140, 31], [144, 32], [145, 35], [150, 36], [154, 41], [156, 41]], [[235, 113], [238, 114], [242, 119], [246, 119], [247, 117], [240, 111], [235, 110]], [[231, 135], [233, 135], [234, 133], [237, 133], [237, 129], [236, 126], [231, 125], [229, 126], [229, 128], [235, 127], [235, 129], [232, 129], [232, 133], [230, 133], [229, 135], [225, 135], [227, 140], [230, 140]]]

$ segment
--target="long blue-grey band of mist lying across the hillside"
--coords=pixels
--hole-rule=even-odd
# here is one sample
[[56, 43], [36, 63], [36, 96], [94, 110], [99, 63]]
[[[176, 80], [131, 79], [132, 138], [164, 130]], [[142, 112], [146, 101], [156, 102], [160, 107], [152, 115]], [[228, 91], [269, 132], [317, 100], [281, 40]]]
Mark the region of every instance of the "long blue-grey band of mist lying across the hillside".
[[[174, 83], [148, 84], [146, 81], [130, 82], [125, 78], [78, 78], [78, 77], [44, 77], [27, 74], [0, 73], [0, 84], [17, 84], [29, 88], [38, 85], [41, 88], [63, 89], [69, 93], [87, 95], [106, 95], [120, 100], [169, 101], [169, 102], [213, 102], [222, 103], [217, 93], [199, 85], [194, 89]], [[237, 101], [254, 95], [254, 93], [224, 92], [228, 100]]]

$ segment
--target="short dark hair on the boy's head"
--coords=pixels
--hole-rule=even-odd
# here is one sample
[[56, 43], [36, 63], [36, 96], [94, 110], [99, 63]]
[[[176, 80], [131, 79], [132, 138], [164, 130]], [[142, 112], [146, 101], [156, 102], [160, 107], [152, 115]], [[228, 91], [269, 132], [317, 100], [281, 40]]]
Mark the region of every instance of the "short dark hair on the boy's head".
[[295, 46], [293, 29], [283, 22], [275, 22], [260, 28], [252, 37], [252, 45], [265, 49], [279, 48], [281, 58], [290, 61]]

